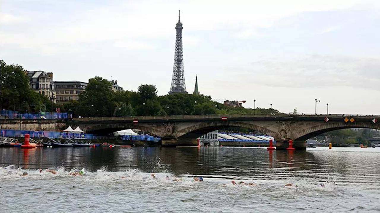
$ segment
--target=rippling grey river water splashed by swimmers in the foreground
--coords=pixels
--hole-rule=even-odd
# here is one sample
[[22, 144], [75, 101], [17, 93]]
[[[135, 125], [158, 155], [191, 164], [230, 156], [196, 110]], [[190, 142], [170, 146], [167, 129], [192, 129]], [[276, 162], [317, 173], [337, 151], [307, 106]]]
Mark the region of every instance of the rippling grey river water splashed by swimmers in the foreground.
[[380, 147], [0, 148], [0, 166], [0, 212], [380, 211]]

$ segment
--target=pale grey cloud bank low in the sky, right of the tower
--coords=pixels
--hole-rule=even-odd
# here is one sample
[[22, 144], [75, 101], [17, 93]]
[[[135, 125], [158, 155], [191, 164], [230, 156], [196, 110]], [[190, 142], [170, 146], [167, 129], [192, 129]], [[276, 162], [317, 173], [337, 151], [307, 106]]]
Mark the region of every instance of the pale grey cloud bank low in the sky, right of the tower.
[[[284, 60], [268, 58], [244, 67], [229, 68], [235, 79], [273, 87], [353, 87], [380, 90], [380, 58], [309, 55]], [[257, 81], [255, 79], [265, 79]]]

